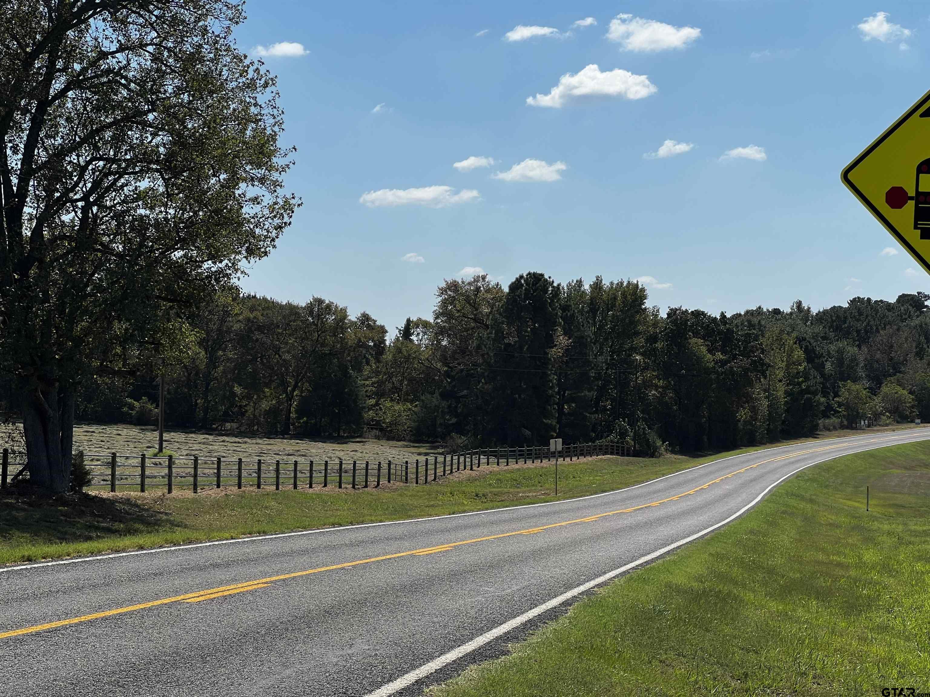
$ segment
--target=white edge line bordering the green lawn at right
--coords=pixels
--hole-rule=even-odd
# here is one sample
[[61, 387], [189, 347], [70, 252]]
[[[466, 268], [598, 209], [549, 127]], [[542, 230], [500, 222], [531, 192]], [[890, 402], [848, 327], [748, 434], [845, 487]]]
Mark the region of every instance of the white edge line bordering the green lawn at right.
[[[872, 448], [864, 448], [863, 450], [857, 451], [857, 453], [865, 453], [870, 450], [876, 450], [878, 448], [885, 448], [885, 447], [888, 447], [888, 446], [876, 445]], [[657, 557], [661, 557], [663, 554], [666, 554], [667, 552], [671, 552], [672, 549], [676, 549], [680, 546], [687, 545], [689, 542], [697, 540], [698, 537], [706, 535], [707, 533], [712, 533], [717, 528], [723, 525], [726, 525], [728, 522], [734, 519], [737, 519], [743, 513], [748, 511], [752, 506], [755, 506], [760, 501], [762, 501], [766, 493], [769, 493], [772, 489], [777, 487], [777, 485], [780, 484], [782, 481], [787, 480], [789, 477], [793, 477], [798, 472], [800, 472], [802, 469], [806, 469], [807, 467], [814, 467], [815, 465], [819, 465], [821, 463], [827, 462], [828, 460], [834, 460], [837, 457], [844, 457], [845, 455], [851, 455], [851, 454], [856, 454], [856, 453], [840, 453], [840, 454], [830, 455], [830, 457], [825, 457], [822, 460], [817, 460], [817, 462], [812, 462], [809, 465], [804, 465], [804, 467], [798, 467], [793, 472], [790, 472], [786, 474], [784, 477], [782, 477], [780, 480], [777, 480], [775, 483], [769, 484], [765, 488], [763, 493], [760, 493], [758, 496], [752, 499], [751, 503], [740, 508], [736, 513], [734, 513], [729, 518], [725, 520], [721, 520], [719, 523], [716, 523], [715, 525], [711, 525], [710, 528], [706, 528], [705, 530], [702, 530], [700, 533], [694, 533], [692, 535], [688, 535], [687, 537], [684, 537], [684, 539], [681, 539], [678, 542], [673, 542], [671, 545], [664, 546], [661, 549], [657, 549], [655, 552], [652, 552], [651, 554], [647, 554], [645, 557], [640, 557], [640, 559], [631, 561], [629, 564], [625, 564], [624, 566], [621, 566], [619, 569], [615, 569], [612, 572], [604, 573], [603, 576], [598, 576], [593, 581], [589, 581], [586, 584], [578, 585], [577, 587], [572, 588], [571, 590], [563, 593], [561, 596], [552, 598], [551, 600], [547, 600], [546, 602], [542, 603], [541, 605], [538, 605], [537, 607], [533, 608], [529, 612], [524, 612], [519, 617], [514, 617], [510, 622], [505, 622], [503, 625], [499, 625], [495, 627], [494, 629], [491, 629], [485, 632], [481, 636], [473, 638], [467, 644], [462, 644], [461, 646], [458, 647], [458, 649], [453, 649], [452, 651], [448, 651], [447, 653], [444, 653], [442, 656], [439, 656], [438, 658], [433, 659], [430, 663], [421, 665], [416, 670], [410, 671], [405, 676], [398, 677], [396, 680], [389, 682], [387, 685], [384, 685], [383, 687], [379, 688], [378, 690], [375, 690], [374, 692], [369, 692], [367, 695], [365, 695], [365, 697], [389, 697], [389, 695], [392, 695], [400, 690], [404, 690], [405, 688], [408, 688], [411, 685], [413, 685], [419, 679], [423, 677], [427, 677], [428, 675], [432, 673], [435, 673], [437, 670], [444, 667], [445, 665], [448, 665], [450, 663], [453, 663], [454, 661], [457, 661], [462, 656], [465, 656], [471, 653], [475, 649], [481, 648], [486, 643], [493, 641], [494, 639], [500, 637], [503, 634], [506, 634], [512, 629], [515, 629], [516, 627], [520, 625], [525, 625], [527, 622], [532, 620], [534, 617], [537, 617], [538, 615], [542, 614], [543, 612], [548, 612], [552, 608], [556, 608], [559, 605], [562, 605], [565, 602], [565, 600], [570, 600], [571, 598], [575, 598], [576, 596], [581, 595], [585, 591], [591, 590], [591, 588], [593, 588], [595, 585], [601, 585], [605, 581], [609, 581], [610, 579], [620, 575], [621, 573], [628, 572], [631, 569], [639, 566], [640, 564], [644, 564], [648, 561], [652, 561], [653, 559], [656, 559]]]

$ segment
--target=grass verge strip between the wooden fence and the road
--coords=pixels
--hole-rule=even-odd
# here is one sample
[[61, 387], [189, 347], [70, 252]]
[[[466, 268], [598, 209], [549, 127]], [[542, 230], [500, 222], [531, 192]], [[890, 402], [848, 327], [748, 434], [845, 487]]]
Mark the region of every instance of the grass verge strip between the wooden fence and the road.
[[[838, 431], [829, 437], [844, 435], [862, 432]], [[761, 449], [763, 446], [701, 456], [561, 462], [558, 500], [613, 491]], [[380, 489], [357, 491], [334, 487], [280, 492], [205, 488], [198, 494], [176, 492], [170, 496], [162, 490], [48, 498], [17, 488], [0, 492], [0, 564], [554, 501], [553, 478], [551, 463], [537, 463], [485, 466], [428, 486], [385, 483]]]

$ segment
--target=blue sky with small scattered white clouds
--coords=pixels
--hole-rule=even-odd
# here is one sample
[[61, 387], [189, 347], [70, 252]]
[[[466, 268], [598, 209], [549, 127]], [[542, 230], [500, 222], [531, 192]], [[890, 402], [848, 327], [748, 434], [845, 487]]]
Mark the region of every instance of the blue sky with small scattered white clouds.
[[[476, 268], [645, 278], [663, 311], [926, 289], [840, 171], [926, 90], [930, 4], [246, 8], [240, 45], [287, 54], [264, 60], [304, 202], [248, 291], [393, 330]], [[494, 164], [453, 166], [470, 157]]]

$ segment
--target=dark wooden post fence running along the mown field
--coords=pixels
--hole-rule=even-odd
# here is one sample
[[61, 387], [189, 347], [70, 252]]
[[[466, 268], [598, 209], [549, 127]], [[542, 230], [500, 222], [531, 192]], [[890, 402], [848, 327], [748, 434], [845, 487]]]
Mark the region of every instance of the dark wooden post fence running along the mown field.
[[[627, 456], [630, 450], [619, 443], [577, 443], [565, 445], [560, 460], [573, 461], [604, 455]], [[424, 456], [412, 462], [371, 462], [365, 460], [299, 461], [243, 460], [223, 457], [200, 458], [174, 455], [120, 455], [79, 453], [90, 474], [85, 489], [103, 491], [187, 491], [206, 489], [339, 489], [378, 488], [384, 483], [426, 484], [463, 470], [481, 467], [551, 462], [548, 447], [479, 448], [445, 455]], [[23, 469], [10, 462], [3, 451], [0, 485], [7, 487]]]

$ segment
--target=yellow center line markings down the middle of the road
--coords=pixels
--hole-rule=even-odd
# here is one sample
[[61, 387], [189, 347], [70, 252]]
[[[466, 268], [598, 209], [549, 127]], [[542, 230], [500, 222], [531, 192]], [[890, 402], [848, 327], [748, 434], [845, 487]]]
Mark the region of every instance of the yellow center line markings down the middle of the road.
[[[875, 438], [870, 441], [864, 441], [864, 442], [889, 441], [889, 440], [892, 440], [892, 439]], [[860, 442], [863, 442], [863, 441], [860, 441]], [[338, 569], [349, 569], [353, 566], [361, 566], [362, 564], [371, 564], [376, 561], [386, 561], [388, 559], [400, 559], [401, 557], [410, 557], [410, 556], [422, 557], [422, 556], [426, 556], [430, 554], [436, 554], [437, 552], [445, 552], [449, 549], [454, 549], [455, 547], [462, 546], [462, 545], [473, 545], [476, 542], [487, 542], [488, 540], [499, 540], [499, 539], [503, 539], [504, 537], [512, 537], [513, 535], [536, 534], [536, 533], [541, 533], [546, 530], [551, 530], [552, 528], [561, 528], [561, 527], [564, 527], [565, 525], [574, 525], [575, 523], [581, 523], [581, 522], [593, 522], [595, 520], [600, 520], [603, 518], [607, 518], [609, 516], [616, 516], [620, 513], [632, 513], [633, 511], [640, 510], [641, 508], [648, 508], [651, 506], [660, 506], [669, 501], [677, 501], [683, 496], [688, 496], [692, 493], [697, 493], [703, 489], [707, 489], [713, 484], [729, 479], [730, 477], [733, 477], [737, 474], [740, 474], [741, 472], [745, 472], [749, 469], [752, 469], [753, 467], [759, 467], [760, 465], [765, 465], [770, 462], [777, 462], [778, 460], [785, 460], [785, 459], [788, 459], [789, 457], [797, 457], [798, 455], [820, 453], [825, 450], [834, 450], [836, 448], [844, 448], [848, 446], [849, 446], [849, 443], [842, 443], [839, 445], [828, 445], [823, 448], [814, 448], [812, 450], [805, 450], [801, 453], [791, 453], [787, 455], [781, 455], [780, 457], [773, 457], [768, 460], [764, 460], [763, 462], [758, 462], [755, 465], [750, 465], [749, 467], [743, 467], [742, 469], [737, 469], [736, 471], [730, 472], [729, 474], [724, 474], [723, 477], [718, 477], [717, 479], [709, 481], [706, 484], [702, 484], [701, 486], [698, 486], [690, 491], [683, 492], [683, 493], [677, 493], [674, 496], [669, 496], [668, 498], [663, 498], [659, 501], [652, 501], [648, 504], [641, 504], [640, 506], [632, 506], [630, 508], [620, 508], [618, 510], [607, 511], [606, 513], [599, 513], [594, 516], [589, 516], [587, 518], [564, 520], [563, 522], [551, 523], [549, 525], [542, 525], [538, 528], [528, 528], [526, 530], [518, 530], [513, 533], [499, 533], [496, 535], [487, 535], [485, 537], [475, 537], [475, 538], [472, 538], [471, 540], [462, 540], [461, 542], [451, 542], [451, 543], [446, 543], [444, 545], [423, 547], [421, 549], [411, 549], [406, 552], [386, 554], [382, 557], [371, 557], [369, 559], [358, 559], [356, 561], [347, 561], [342, 564], [333, 564], [331, 566], [321, 566], [317, 569], [307, 569], [306, 571], [301, 571], [301, 572], [282, 573], [281, 575], [278, 575], [278, 576], [269, 576], [268, 578], [260, 578], [257, 581], [249, 581], [243, 584], [223, 585], [223, 586], [220, 586], [219, 588], [209, 588], [207, 590], [197, 591], [196, 593], [186, 593], [182, 596], [174, 596], [172, 598], [161, 598], [159, 600], [152, 600], [150, 602], [142, 602], [137, 605], [128, 605], [125, 608], [116, 608], [114, 610], [107, 610], [104, 612], [94, 612], [92, 614], [81, 615], [80, 617], [72, 617], [67, 620], [59, 620], [58, 622], [49, 622], [49, 623], [46, 623], [45, 625], [34, 625], [34, 626], [23, 627], [22, 629], [13, 629], [8, 632], [0, 633], [0, 639], [20, 637], [24, 634], [33, 634], [34, 632], [42, 632], [42, 631], [45, 631], [46, 629], [54, 629], [55, 627], [60, 627], [60, 626], [77, 625], [82, 622], [89, 622], [91, 620], [99, 620], [104, 617], [113, 617], [113, 615], [123, 614], [125, 612], [136, 612], [139, 610], [147, 610], [148, 608], [154, 608], [159, 605], [167, 605], [168, 603], [172, 603], [172, 602], [200, 602], [202, 600], [210, 600], [212, 598], [221, 598], [223, 596], [231, 596], [237, 593], [245, 593], [246, 591], [249, 591], [249, 590], [265, 588], [268, 585], [272, 585], [272, 583], [276, 581], [285, 581], [286, 579], [298, 578], [299, 576], [309, 576], [312, 573], [332, 572]]]

